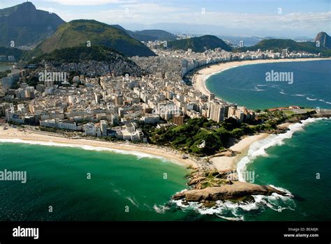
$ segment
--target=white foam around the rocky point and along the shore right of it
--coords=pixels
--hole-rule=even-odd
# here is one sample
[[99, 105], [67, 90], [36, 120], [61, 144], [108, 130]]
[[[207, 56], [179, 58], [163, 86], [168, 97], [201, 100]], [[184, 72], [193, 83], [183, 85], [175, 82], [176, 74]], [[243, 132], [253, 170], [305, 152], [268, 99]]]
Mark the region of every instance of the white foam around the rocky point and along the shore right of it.
[[[237, 164], [238, 178], [240, 181], [244, 181], [244, 174], [242, 172], [246, 169], [247, 165], [256, 159], [258, 156], [267, 157], [267, 152], [265, 149], [271, 146], [277, 146], [284, 144], [285, 139], [289, 139], [297, 131], [303, 130], [304, 126], [309, 123], [316, 121], [321, 121], [325, 118], [309, 118], [301, 123], [295, 123], [289, 126], [289, 130], [284, 134], [270, 135], [266, 139], [262, 139], [258, 142], [251, 144], [249, 152], [246, 157], [242, 158]], [[174, 204], [185, 210], [196, 211], [203, 215], [216, 215], [219, 218], [230, 221], [240, 221], [245, 220], [245, 216], [256, 213], [261, 213], [265, 208], [270, 208], [273, 211], [282, 212], [284, 210], [295, 211], [295, 201], [293, 200], [293, 194], [284, 188], [280, 188], [274, 185], [270, 187], [286, 192], [286, 195], [279, 195], [277, 193], [272, 193], [270, 196], [265, 195], [253, 195], [254, 201], [251, 202], [240, 202], [235, 203], [232, 201], [216, 201], [216, 206], [214, 208], [206, 208], [203, 204], [198, 202], [189, 202], [189, 205], [182, 204], [182, 200], [172, 200]]]

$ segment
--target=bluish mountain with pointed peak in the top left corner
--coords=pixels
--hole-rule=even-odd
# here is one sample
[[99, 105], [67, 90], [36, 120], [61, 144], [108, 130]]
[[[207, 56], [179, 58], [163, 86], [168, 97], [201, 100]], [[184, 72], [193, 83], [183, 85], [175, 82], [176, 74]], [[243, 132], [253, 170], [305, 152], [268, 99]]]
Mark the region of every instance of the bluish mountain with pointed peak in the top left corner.
[[56, 14], [37, 10], [31, 2], [25, 2], [0, 10], [0, 46], [15, 47], [31, 45], [54, 33], [63, 24]]

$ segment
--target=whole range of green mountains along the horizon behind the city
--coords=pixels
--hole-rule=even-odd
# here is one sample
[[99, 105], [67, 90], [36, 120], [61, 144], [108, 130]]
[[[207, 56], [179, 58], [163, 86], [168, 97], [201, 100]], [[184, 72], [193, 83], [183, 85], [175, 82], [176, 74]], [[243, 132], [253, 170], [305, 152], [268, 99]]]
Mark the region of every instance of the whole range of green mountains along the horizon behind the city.
[[[172, 26], [176, 25], [172, 24]], [[196, 25], [196, 28], [198, 27], [207, 31], [204, 25]], [[222, 36], [222, 38], [232, 41], [235, 45], [239, 40], [234, 36]], [[290, 39], [264, 39], [258, 42], [259, 38], [247, 38], [244, 45], [252, 46], [236, 50], [289, 49], [296, 52], [321, 52], [323, 56], [331, 56], [331, 38], [325, 32], [318, 33], [314, 42], [305, 41], [309, 40], [306, 37], [300, 38], [299, 40], [303, 41], [298, 42]], [[37, 10], [31, 2], [0, 10], [0, 55], [13, 55], [16, 59], [31, 59], [32, 56], [49, 54], [56, 49], [87, 47], [89, 44], [91, 47], [102, 45], [125, 56], [155, 56], [151, 49], [141, 43], [149, 40], [167, 40], [168, 47], [172, 49], [191, 48], [193, 52], [204, 52], [206, 49], [216, 47], [226, 51], [233, 50], [233, 47], [221, 38], [211, 35], [176, 40], [175, 35], [162, 29], [128, 31], [118, 24], [109, 25], [96, 20], [73, 20], [66, 23], [55, 13]], [[14, 48], [36, 43], [39, 43], [37, 47], [29, 52]], [[316, 43], [319, 43], [320, 47]]]

